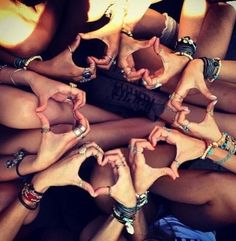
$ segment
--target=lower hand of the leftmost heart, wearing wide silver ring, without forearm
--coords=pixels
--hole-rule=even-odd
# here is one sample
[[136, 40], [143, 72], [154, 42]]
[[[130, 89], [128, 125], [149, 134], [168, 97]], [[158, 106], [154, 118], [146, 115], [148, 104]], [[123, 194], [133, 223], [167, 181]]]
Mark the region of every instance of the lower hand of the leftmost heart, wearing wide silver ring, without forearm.
[[80, 114], [79, 111], [75, 111], [75, 116], [79, 120], [80, 124], [85, 127], [85, 131], [80, 136], [76, 135], [75, 129], [67, 133], [55, 134], [50, 131], [50, 125], [47, 117], [42, 114], [37, 114], [42, 124], [42, 139], [38, 150], [37, 157], [34, 161], [34, 166], [37, 171], [41, 171], [54, 162], [56, 162], [66, 151], [72, 148], [78, 141], [90, 130], [87, 119]]

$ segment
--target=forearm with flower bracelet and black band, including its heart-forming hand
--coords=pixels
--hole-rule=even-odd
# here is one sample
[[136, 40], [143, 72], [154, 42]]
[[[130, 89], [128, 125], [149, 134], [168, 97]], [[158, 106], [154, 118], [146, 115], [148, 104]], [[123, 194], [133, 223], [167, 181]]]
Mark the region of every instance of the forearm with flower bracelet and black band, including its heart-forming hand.
[[[49, 122], [43, 114], [38, 114], [42, 123], [42, 139], [37, 155], [23, 156], [18, 152], [13, 157], [3, 158], [0, 164], [0, 181], [8, 181], [40, 172], [51, 166], [56, 160], [70, 148], [72, 148], [83, 136], [89, 132], [88, 121], [77, 111], [78, 127], [66, 133], [55, 134], [50, 131]], [[75, 135], [75, 130], [84, 127], [83, 132]], [[25, 156], [24, 156], [25, 155]]]

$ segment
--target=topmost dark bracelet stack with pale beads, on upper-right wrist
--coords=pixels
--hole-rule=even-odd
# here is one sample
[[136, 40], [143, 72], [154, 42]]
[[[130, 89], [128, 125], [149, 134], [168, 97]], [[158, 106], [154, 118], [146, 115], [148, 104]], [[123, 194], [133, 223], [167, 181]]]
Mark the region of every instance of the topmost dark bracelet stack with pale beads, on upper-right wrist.
[[186, 56], [190, 60], [193, 60], [193, 55], [195, 54], [196, 49], [196, 43], [189, 36], [185, 36], [177, 41], [175, 46], [175, 54]]

